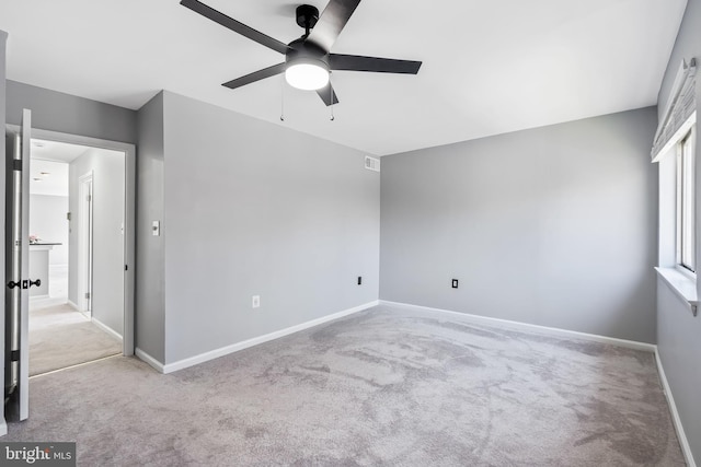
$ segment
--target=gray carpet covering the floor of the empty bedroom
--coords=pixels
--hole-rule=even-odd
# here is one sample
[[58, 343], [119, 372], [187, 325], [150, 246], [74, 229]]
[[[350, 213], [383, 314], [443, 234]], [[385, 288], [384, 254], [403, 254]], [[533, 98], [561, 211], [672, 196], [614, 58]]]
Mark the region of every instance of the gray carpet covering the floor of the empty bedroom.
[[682, 466], [654, 355], [378, 306], [161, 375], [32, 380], [2, 441], [81, 466]]

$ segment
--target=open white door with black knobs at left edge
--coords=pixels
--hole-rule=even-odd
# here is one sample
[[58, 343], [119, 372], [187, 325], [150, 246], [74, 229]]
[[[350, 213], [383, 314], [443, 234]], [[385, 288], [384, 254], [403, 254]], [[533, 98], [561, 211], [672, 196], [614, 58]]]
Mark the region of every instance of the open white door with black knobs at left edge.
[[30, 148], [32, 113], [24, 109], [19, 133], [7, 132], [5, 198], [5, 388], [8, 420], [30, 416]]

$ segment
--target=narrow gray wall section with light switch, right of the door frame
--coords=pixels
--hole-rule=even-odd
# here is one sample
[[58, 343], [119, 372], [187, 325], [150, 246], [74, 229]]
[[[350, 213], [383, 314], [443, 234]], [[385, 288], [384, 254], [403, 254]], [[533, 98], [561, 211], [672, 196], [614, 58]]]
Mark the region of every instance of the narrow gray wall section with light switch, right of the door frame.
[[164, 236], [163, 234], [151, 235], [151, 222], [163, 221], [162, 93], [139, 109], [138, 130], [136, 347], [163, 363], [165, 362]]

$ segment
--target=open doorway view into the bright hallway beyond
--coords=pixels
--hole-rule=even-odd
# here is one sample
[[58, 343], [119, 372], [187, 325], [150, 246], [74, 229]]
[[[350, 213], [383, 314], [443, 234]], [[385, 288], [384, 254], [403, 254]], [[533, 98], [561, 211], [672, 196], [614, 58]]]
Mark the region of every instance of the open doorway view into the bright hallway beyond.
[[124, 352], [125, 162], [124, 151], [32, 139], [30, 275], [43, 284], [30, 297], [30, 376]]

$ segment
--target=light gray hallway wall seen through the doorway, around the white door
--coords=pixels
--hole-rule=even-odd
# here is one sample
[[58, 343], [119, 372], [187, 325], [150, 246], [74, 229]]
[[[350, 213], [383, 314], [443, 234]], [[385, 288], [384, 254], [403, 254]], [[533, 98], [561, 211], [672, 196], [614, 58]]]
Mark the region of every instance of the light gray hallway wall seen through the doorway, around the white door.
[[78, 179], [93, 172], [92, 316], [124, 334], [124, 154], [89, 149], [69, 166], [69, 300], [78, 303]]

